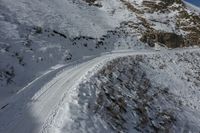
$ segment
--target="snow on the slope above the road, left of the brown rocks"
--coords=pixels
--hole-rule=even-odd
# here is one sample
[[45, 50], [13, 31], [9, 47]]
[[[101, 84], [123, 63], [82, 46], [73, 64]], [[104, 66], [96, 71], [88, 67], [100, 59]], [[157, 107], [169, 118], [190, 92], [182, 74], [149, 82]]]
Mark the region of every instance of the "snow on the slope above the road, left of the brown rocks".
[[[123, 21], [138, 21], [133, 13], [119, 0], [101, 4], [98, 8], [82, 0], [2, 0], [0, 100], [57, 64], [115, 49], [146, 47], [135, 33], [127, 35], [120, 28]], [[12, 76], [6, 74], [11, 71]]]

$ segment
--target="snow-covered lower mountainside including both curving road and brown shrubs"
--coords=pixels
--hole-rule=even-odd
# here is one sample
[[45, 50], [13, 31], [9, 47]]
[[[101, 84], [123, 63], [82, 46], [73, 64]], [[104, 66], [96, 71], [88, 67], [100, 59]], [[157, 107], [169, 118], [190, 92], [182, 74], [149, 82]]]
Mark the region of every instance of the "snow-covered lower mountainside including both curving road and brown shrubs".
[[112, 52], [50, 72], [0, 104], [0, 132], [199, 132], [199, 52]]

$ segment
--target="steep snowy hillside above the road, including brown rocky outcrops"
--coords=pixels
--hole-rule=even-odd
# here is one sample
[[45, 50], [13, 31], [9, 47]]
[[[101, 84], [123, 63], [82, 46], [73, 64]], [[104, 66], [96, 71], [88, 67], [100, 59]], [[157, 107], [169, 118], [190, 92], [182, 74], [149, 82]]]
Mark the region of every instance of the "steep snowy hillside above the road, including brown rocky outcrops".
[[199, 20], [181, 0], [1, 0], [0, 99], [84, 56], [199, 45]]

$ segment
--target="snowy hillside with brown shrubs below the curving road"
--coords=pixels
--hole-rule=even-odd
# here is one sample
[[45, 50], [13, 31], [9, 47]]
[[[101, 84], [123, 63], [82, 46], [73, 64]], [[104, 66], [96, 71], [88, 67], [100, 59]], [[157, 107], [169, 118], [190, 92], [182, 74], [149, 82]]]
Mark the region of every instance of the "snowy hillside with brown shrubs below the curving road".
[[[171, 51], [114, 59], [80, 84], [72, 100], [64, 103], [66, 112], [55, 118], [68, 114], [65, 124], [48, 127], [63, 126], [63, 132], [86, 133], [197, 133], [199, 52]], [[67, 110], [68, 106], [72, 108]]]

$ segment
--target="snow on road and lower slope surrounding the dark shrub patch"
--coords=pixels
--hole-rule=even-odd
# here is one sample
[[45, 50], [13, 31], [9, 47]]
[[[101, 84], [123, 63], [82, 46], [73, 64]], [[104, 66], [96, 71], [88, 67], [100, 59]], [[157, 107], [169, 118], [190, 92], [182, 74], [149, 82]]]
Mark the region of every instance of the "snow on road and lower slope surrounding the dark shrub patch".
[[[191, 122], [198, 123], [199, 114], [197, 110], [200, 108], [198, 104], [200, 100], [198, 90], [200, 88], [194, 84], [196, 80], [196, 83], [199, 82], [195, 78], [195, 73], [199, 70], [198, 60], [200, 58], [198, 53], [199, 49], [193, 48], [163, 50], [162, 52], [115, 51], [113, 53], [105, 53], [96, 58], [91, 57], [93, 59], [87, 59], [88, 61], [83, 61], [80, 64], [55, 66], [52, 71], [47, 72], [42, 77], [30, 83], [17, 95], [1, 103], [1, 108], [5, 105], [6, 107], [0, 110], [0, 131], [4, 133], [113, 132], [113, 129], [108, 124], [112, 123], [112, 121], [102, 117], [103, 112], [98, 113], [98, 115], [88, 112], [88, 107], [94, 107], [97, 94], [102, 89], [94, 87], [94, 82], [98, 81], [97, 86], [99, 86], [111, 80], [106, 79], [108, 77], [98, 78], [98, 75], [101, 74], [103, 69], [109, 66], [110, 62], [113, 64], [114, 62], [116, 63], [115, 60], [122, 59], [124, 62], [120, 63], [119, 68], [116, 65], [116, 70], [129, 70], [135, 66], [126, 66], [126, 64], [131, 63], [135, 59], [140, 60], [140, 56], [144, 57], [144, 61], [139, 63], [141, 70], [145, 71], [151, 84], [157, 87], [160, 86], [161, 88], [169, 88], [169, 92], [173, 94], [177, 102], [178, 99], [181, 100], [184, 108], [189, 108], [197, 115], [195, 119], [189, 117], [190, 115], [193, 116], [190, 111], [185, 111], [184, 113], [188, 113], [188, 115], [184, 114], [184, 116]], [[159, 68], [162, 63], [165, 63], [166, 68]], [[187, 81], [187, 75], [183, 75], [186, 71], [191, 71], [190, 75], [192, 77], [188, 77], [191, 80], [189, 82]], [[119, 77], [118, 72], [111, 71], [111, 73], [115, 75], [115, 78]], [[123, 82], [129, 82], [130, 79], [126, 78], [128, 76], [126, 75], [127, 73], [122, 74], [124, 74], [122, 77]], [[181, 78], [184, 76], [186, 76], [186, 79]], [[115, 81], [115, 79], [112, 79], [112, 81]], [[120, 89], [120, 86], [117, 88], [121, 91], [123, 90], [122, 88]], [[192, 89], [191, 93], [188, 93], [190, 92], [188, 89], [190, 91]], [[122, 93], [132, 96], [131, 93], [126, 92], [126, 89]], [[160, 104], [159, 106], [161, 106]], [[175, 105], [169, 105], [170, 108], [173, 108], [173, 106]], [[181, 121], [186, 118], [177, 119]], [[126, 119], [129, 122], [134, 122], [132, 118], [128, 119], [126, 117]], [[177, 123], [181, 124], [179, 121]], [[194, 125], [189, 125], [190, 130], [193, 129], [191, 126], [194, 128]], [[178, 129], [179, 127], [175, 127], [172, 130], [177, 131]], [[199, 129], [199, 127], [196, 126], [193, 131], [196, 131], [196, 129]], [[130, 130], [134, 131], [134, 129]]]

